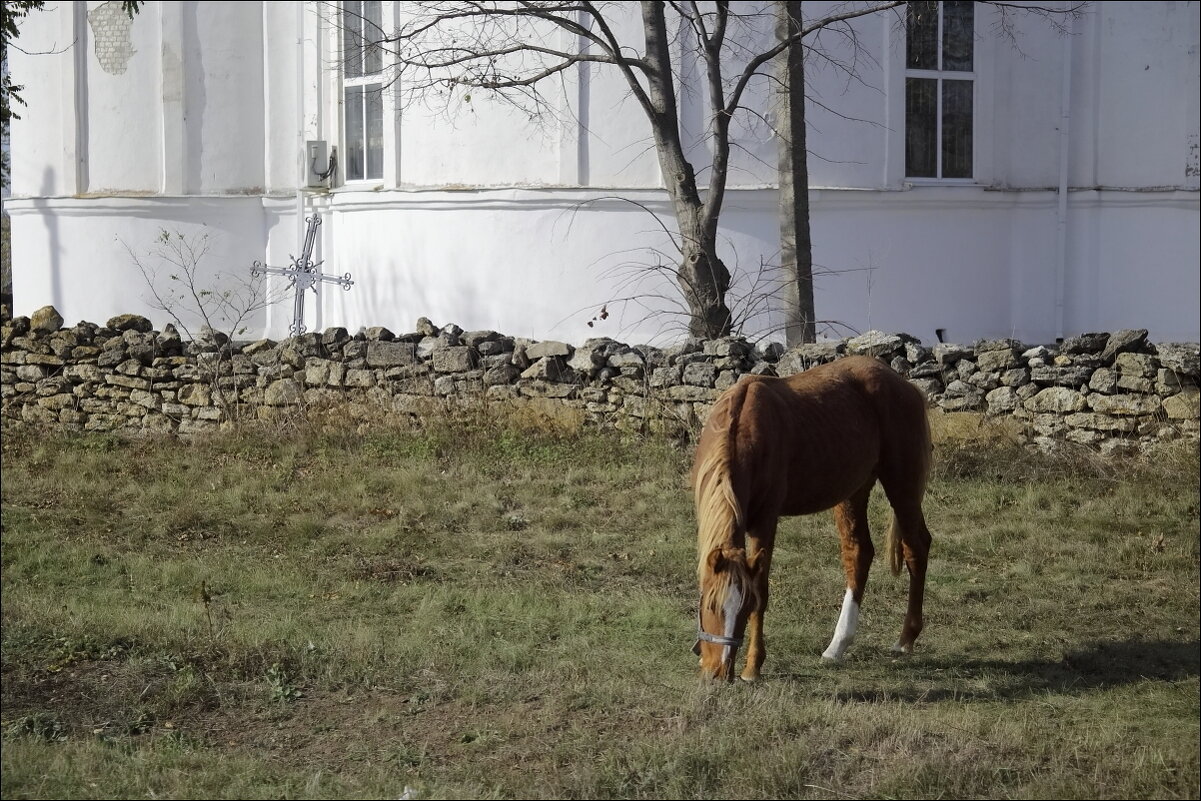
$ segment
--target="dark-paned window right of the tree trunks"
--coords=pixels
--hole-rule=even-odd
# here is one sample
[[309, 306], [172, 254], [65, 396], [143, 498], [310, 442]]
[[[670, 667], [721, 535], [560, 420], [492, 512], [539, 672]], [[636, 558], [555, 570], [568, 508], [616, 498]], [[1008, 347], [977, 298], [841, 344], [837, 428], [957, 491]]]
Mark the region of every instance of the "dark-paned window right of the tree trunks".
[[972, 178], [972, 2], [910, 2], [906, 24], [906, 175]]

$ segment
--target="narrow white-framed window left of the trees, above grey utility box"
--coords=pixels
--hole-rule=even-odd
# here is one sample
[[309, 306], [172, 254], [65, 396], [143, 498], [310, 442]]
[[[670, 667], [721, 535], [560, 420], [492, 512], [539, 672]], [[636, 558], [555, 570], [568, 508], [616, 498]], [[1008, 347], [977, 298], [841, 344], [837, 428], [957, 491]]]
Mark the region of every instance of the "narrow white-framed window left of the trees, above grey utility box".
[[342, 115], [348, 181], [383, 178], [383, 40], [380, 0], [342, 2]]

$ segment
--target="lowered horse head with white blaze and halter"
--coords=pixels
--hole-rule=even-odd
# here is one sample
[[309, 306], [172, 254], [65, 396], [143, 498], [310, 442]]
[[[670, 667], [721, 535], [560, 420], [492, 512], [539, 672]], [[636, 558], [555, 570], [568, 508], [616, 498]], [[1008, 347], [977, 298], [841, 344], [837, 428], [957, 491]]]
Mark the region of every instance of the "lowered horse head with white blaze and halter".
[[697, 644], [701, 679], [734, 681], [734, 658], [747, 617], [755, 609], [754, 564], [741, 548], [718, 546], [709, 552], [700, 576]]

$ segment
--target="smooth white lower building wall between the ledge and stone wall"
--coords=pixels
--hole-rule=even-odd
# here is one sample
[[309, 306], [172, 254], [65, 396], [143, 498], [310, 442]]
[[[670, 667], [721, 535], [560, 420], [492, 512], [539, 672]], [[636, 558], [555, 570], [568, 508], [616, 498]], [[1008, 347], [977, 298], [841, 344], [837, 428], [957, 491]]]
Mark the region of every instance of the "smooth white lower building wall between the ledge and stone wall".
[[[1197, 339], [1196, 198], [1178, 193], [1165, 215], [1161, 201], [1110, 208], [1083, 195], [1097, 193], [1074, 193], [1065, 333], [1133, 327], [1148, 328], [1157, 341]], [[355, 283], [348, 292], [324, 289], [319, 309], [310, 299], [309, 328], [387, 325], [401, 333], [428, 316], [538, 339], [679, 337], [680, 315], [643, 307], [671, 309], [674, 287], [631, 285], [635, 265], [653, 263], [651, 249], [670, 252], [665, 238], [644, 211], [620, 202], [598, 201], [573, 214], [580, 201], [598, 197], [494, 190], [346, 193], [331, 204], [325, 198], [315, 258], [325, 259], [327, 273], [351, 273]], [[667, 211], [656, 192], [637, 197]], [[148, 247], [163, 228], [207, 231], [210, 269], [235, 275], [247, 274], [255, 258], [286, 267], [299, 252], [288, 198], [96, 203], [13, 202], [14, 263], [50, 267], [14, 270], [18, 313], [54, 304], [68, 321], [103, 322], [133, 311], [166, 322], [145, 305], [142, 279], [116, 237]], [[723, 257], [736, 275], [735, 304], [755, 281], [760, 292], [772, 287], [770, 270], [760, 277], [759, 268], [777, 258], [773, 203], [771, 190], [730, 195]], [[814, 295], [826, 335], [877, 328], [933, 342], [942, 328], [954, 341], [1051, 342], [1060, 334], [1052, 192], [963, 187], [948, 198], [930, 187], [886, 195], [825, 190], [813, 197], [813, 231]], [[622, 303], [632, 294], [638, 304]], [[602, 306], [610, 317], [593, 319]], [[285, 336], [291, 319], [287, 301], [259, 318], [253, 335]], [[778, 323], [778, 316], [760, 317], [745, 333], [771, 335]]]

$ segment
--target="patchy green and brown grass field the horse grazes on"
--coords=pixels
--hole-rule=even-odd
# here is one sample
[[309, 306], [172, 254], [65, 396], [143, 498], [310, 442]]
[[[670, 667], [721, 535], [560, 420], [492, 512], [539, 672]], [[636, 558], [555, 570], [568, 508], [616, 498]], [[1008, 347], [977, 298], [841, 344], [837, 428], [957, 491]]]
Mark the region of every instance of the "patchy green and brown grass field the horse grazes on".
[[712, 687], [688, 449], [533, 428], [6, 429], [5, 797], [1197, 797], [1195, 447], [940, 447], [904, 659], [787, 520]]

